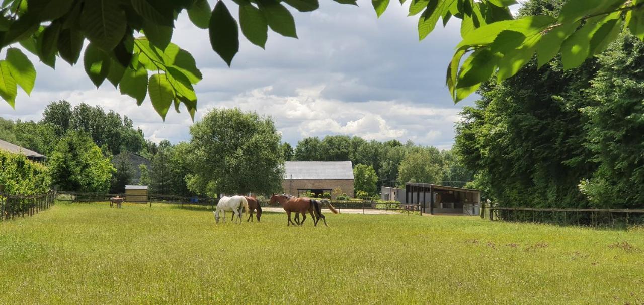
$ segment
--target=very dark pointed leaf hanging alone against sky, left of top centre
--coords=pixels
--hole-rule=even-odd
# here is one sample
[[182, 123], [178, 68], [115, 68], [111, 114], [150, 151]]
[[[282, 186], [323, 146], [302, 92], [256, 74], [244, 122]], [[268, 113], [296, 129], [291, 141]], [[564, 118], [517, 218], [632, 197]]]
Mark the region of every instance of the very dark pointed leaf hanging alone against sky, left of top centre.
[[221, 0], [214, 5], [208, 32], [214, 52], [231, 66], [232, 57], [240, 50], [239, 29], [237, 21]]

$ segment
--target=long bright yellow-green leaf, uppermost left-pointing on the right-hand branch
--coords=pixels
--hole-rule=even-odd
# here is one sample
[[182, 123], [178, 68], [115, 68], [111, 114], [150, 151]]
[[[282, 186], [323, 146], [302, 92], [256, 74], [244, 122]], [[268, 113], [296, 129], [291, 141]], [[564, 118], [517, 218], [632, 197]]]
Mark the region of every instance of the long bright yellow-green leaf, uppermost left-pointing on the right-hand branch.
[[457, 48], [463, 46], [482, 46], [493, 43], [497, 35], [504, 30], [513, 30], [524, 34], [526, 37], [535, 35], [544, 30], [555, 21], [554, 17], [548, 15], [527, 16], [516, 20], [504, 20], [481, 26], [472, 32], [459, 43]]

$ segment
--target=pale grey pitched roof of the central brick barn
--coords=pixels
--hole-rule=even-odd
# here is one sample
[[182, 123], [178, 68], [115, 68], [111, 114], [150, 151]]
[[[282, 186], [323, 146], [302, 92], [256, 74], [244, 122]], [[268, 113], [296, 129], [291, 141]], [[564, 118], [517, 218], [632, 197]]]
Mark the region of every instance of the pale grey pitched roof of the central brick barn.
[[286, 161], [284, 179], [354, 179], [351, 161]]

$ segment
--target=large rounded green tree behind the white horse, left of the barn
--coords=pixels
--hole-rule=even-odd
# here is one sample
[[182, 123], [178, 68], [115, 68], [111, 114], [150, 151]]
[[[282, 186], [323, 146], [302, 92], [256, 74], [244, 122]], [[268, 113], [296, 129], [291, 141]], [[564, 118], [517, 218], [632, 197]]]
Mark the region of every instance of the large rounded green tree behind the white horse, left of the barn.
[[190, 128], [197, 193], [273, 193], [281, 190], [283, 157], [273, 122], [239, 109], [214, 109]]

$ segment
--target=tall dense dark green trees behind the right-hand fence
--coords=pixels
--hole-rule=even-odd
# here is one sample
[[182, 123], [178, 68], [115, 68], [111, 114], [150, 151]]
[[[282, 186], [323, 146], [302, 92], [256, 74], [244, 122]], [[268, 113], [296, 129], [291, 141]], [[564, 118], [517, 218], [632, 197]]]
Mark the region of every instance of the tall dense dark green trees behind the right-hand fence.
[[[557, 17], [565, 3], [533, 0], [520, 14]], [[579, 68], [564, 64], [533, 59], [464, 108], [455, 152], [477, 173], [470, 185], [505, 206], [641, 207], [644, 43], [624, 30]]]

